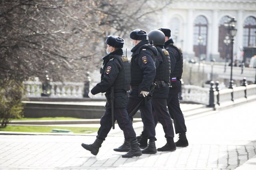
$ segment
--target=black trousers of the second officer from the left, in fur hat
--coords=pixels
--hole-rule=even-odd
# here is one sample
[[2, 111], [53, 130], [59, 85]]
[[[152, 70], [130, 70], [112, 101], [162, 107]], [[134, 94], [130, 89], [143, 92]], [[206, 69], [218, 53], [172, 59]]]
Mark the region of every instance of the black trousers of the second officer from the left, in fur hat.
[[[127, 112], [130, 113], [132, 109], [139, 103], [139, 101], [143, 99], [143, 97], [132, 97], [128, 99], [128, 104], [127, 104]], [[151, 104], [151, 99], [145, 103], [144, 101], [141, 103], [140, 109], [141, 111], [141, 119], [143, 122], [143, 125], [145, 127], [145, 132], [148, 135], [148, 139], [153, 139], [156, 140], [156, 131], [155, 131], [155, 123], [154, 123], [154, 118], [152, 115], [152, 104]], [[126, 139], [126, 138], [125, 138]]]

